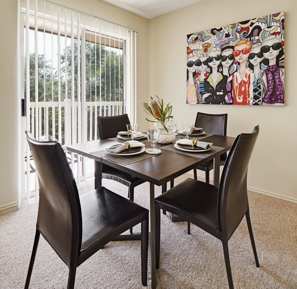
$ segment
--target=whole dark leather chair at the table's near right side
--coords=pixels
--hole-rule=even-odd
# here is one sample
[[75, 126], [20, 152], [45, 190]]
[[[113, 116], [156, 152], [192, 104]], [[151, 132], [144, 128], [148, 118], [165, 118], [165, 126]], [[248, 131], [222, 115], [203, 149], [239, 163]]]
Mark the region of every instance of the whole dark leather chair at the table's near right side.
[[256, 126], [251, 134], [240, 134], [236, 138], [227, 157], [219, 188], [187, 179], [155, 198], [156, 268], [159, 268], [160, 259], [160, 209], [183, 217], [222, 241], [230, 289], [234, 286], [228, 241], [246, 216], [256, 267], [259, 267], [247, 199], [247, 168], [258, 133], [259, 126]]

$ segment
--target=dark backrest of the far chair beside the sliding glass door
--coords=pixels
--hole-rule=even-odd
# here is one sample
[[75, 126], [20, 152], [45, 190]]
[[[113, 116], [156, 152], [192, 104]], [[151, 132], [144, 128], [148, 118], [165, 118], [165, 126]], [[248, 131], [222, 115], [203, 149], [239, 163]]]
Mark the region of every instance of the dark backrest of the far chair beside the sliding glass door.
[[98, 116], [99, 140], [115, 138], [119, 131], [127, 131], [126, 124], [130, 123], [128, 114], [116, 116]]

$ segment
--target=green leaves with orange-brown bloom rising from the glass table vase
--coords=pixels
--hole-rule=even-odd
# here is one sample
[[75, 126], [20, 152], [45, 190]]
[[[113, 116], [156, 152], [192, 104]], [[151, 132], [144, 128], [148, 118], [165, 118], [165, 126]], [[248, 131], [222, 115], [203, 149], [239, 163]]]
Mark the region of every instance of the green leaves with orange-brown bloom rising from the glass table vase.
[[169, 119], [173, 118], [173, 116], [171, 115], [172, 105], [170, 105], [170, 103], [167, 103], [166, 106], [164, 107], [163, 98], [160, 99], [158, 96], [156, 97], [157, 97], [157, 100], [153, 99], [150, 96], [149, 103], [147, 102], [143, 103], [144, 110], [146, 111], [146, 113], [148, 113], [148, 115], [154, 117], [155, 119], [155, 120], [149, 120], [148, 118], [146, 118], [146, 120], [149, 122], [158, 121], [164, 127], [166, 132], [168, 132], [168, 129], [166, 128], [166, 123], [168, 122]]

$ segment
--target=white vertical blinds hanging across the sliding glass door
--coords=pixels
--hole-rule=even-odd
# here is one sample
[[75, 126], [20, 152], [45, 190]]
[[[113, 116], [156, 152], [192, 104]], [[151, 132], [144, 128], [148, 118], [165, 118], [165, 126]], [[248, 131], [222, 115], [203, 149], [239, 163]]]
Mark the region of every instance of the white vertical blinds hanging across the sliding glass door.
[[[98, 115], [128, 113], [136, 120], [136, 31], [49, 1], [19, 0], [18, 7], [18, 100], [26, 103], [19, 118], [21, 204], [38, 200], [24, 130], [66, 151], [98, 138]], [[85, 160], [67, 155], [80, 182]]]

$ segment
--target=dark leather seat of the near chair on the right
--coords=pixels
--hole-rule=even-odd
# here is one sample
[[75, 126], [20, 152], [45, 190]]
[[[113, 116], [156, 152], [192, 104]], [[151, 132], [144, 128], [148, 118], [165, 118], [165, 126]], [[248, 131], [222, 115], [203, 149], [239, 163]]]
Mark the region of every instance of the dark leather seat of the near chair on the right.
[[155, 205], [200, 227], [205, 224], [218, 230], [218, 189], [213, 185], [187, 179], [155, 198]]

